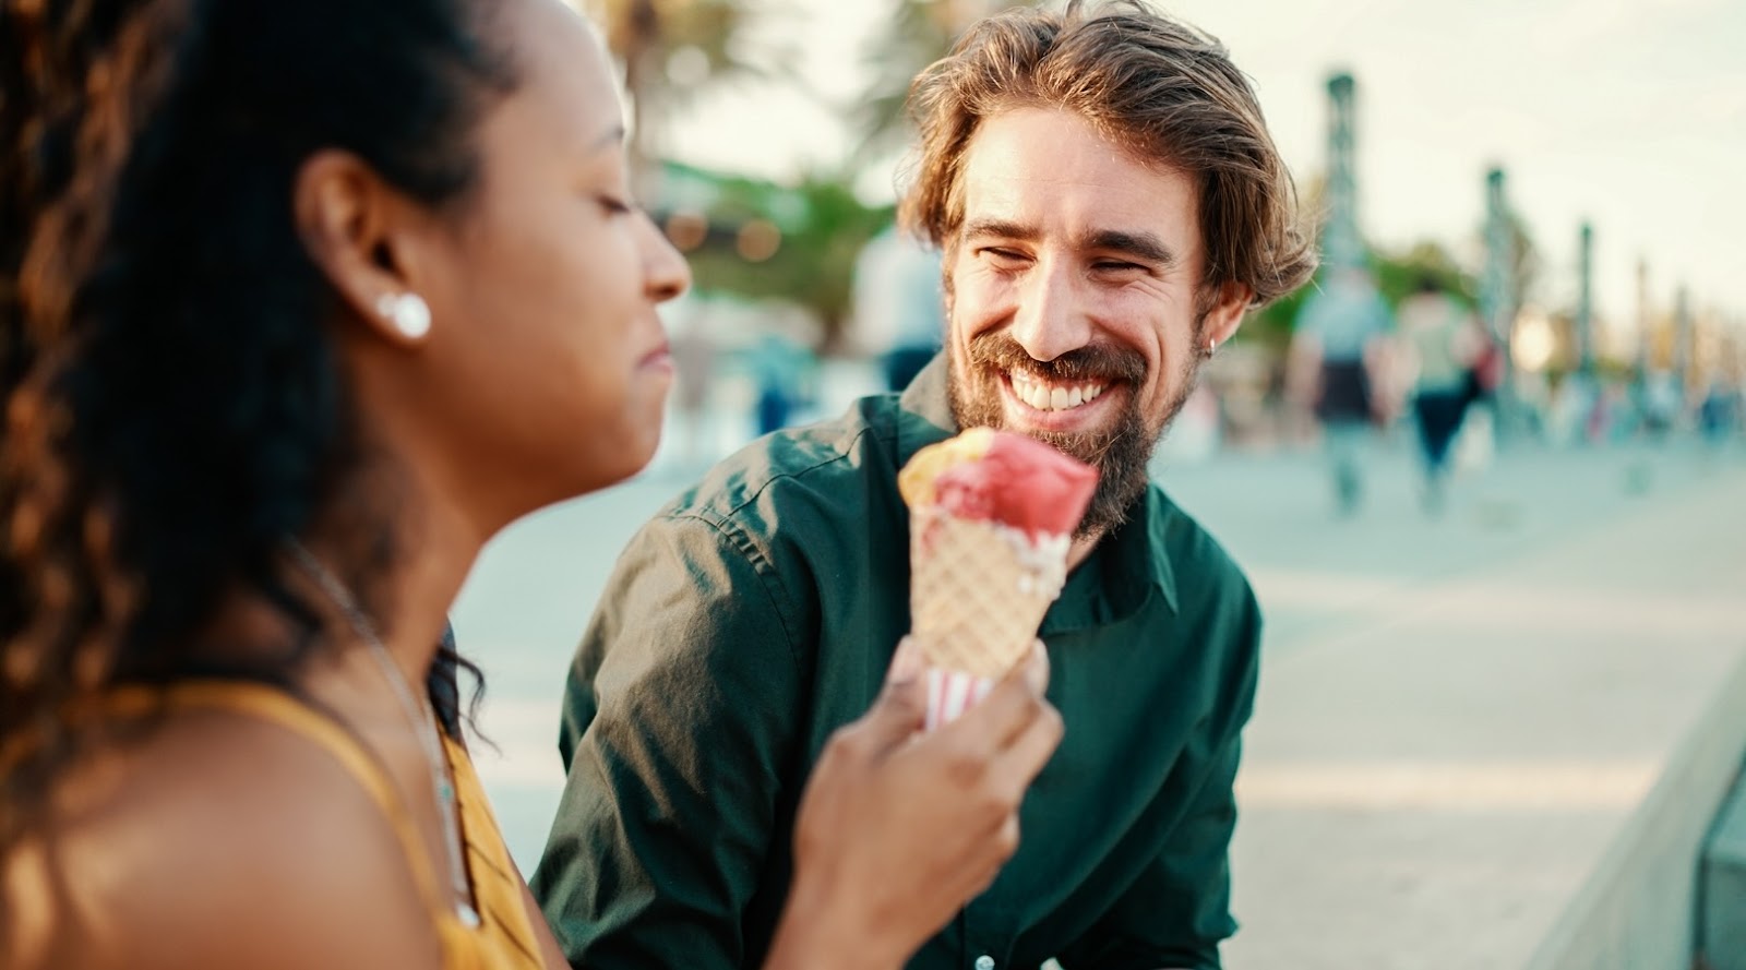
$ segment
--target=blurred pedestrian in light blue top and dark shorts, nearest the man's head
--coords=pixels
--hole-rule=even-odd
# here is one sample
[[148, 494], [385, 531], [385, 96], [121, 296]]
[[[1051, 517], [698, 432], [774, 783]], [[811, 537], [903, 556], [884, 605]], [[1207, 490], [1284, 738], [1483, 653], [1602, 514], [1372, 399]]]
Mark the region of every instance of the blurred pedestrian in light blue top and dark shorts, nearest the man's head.
[[1388, 352], [1390, 323], [1388, 304], [1364, 267], [1330, 270], [1297, 312], [1292, 358], [1315, 375], [1311, 408], [1322, 422], [1334, 508], [1341, 515], [1353, 515], [1364, 504], [1365, 454], [1385, 408], [1376, 379]]

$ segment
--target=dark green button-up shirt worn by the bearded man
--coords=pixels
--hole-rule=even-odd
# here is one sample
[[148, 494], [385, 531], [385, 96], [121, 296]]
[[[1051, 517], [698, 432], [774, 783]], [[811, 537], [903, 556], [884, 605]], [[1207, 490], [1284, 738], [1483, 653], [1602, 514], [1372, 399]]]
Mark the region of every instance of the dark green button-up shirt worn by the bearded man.
[[[632, 539], [569, 672], [569, 778], [533, 879], [573, 965], [763, 960], [807, 775], [910, 626], [897, 469], [952, 429], [936, 359], [901, 400], [753, 443]], [[1067, 734], [1018, 853], [910, 967], [1219, 967], [1248, 583], [1152, 487], [1041, 635]]]

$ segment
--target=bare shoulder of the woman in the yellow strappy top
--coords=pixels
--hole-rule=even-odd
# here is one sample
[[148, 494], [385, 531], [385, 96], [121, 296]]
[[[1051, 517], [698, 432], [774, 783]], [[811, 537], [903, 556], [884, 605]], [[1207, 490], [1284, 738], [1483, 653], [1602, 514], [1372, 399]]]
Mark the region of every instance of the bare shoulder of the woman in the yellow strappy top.
[[7, 895], [35, 902], [0, 965], [440, 963], [393, 827], [307, 738], [183, 712], [68, 782], [61, 827], [7, 865]]

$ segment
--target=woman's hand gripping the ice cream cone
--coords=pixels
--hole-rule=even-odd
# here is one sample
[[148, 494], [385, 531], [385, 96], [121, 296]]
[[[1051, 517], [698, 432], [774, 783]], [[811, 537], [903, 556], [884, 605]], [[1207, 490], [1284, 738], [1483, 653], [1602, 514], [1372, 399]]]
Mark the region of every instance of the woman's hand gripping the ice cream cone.
[[901, 644], [873, 708], [824, 747], [766, 970], [901, 967], [1018, 848], [1018, 804], [1062, 740], [1042, 700], [1042, 644], [927, 734], [918, 673], [915, 649]]

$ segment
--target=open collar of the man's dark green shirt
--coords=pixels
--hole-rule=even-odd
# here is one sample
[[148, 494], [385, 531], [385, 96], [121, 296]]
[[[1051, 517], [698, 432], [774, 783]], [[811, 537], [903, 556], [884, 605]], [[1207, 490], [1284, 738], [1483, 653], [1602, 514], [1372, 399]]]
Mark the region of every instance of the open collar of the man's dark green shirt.
[[[959, 433], [946, 382], [946, 354], [939, 352], [897, 398], [897, 468], [915, 452]], [[1105, 536], [1067, 579], [1062, 602], [1042, 625], [1044, 633], [1123, 619], [1138, 611], [1154, 588], [1170, 612], [1177, 612], [1175, 570], [1166, 553], [1175, 518], [1170, 499], [1156, 487], [1147, 488], [1128, 522]]]

